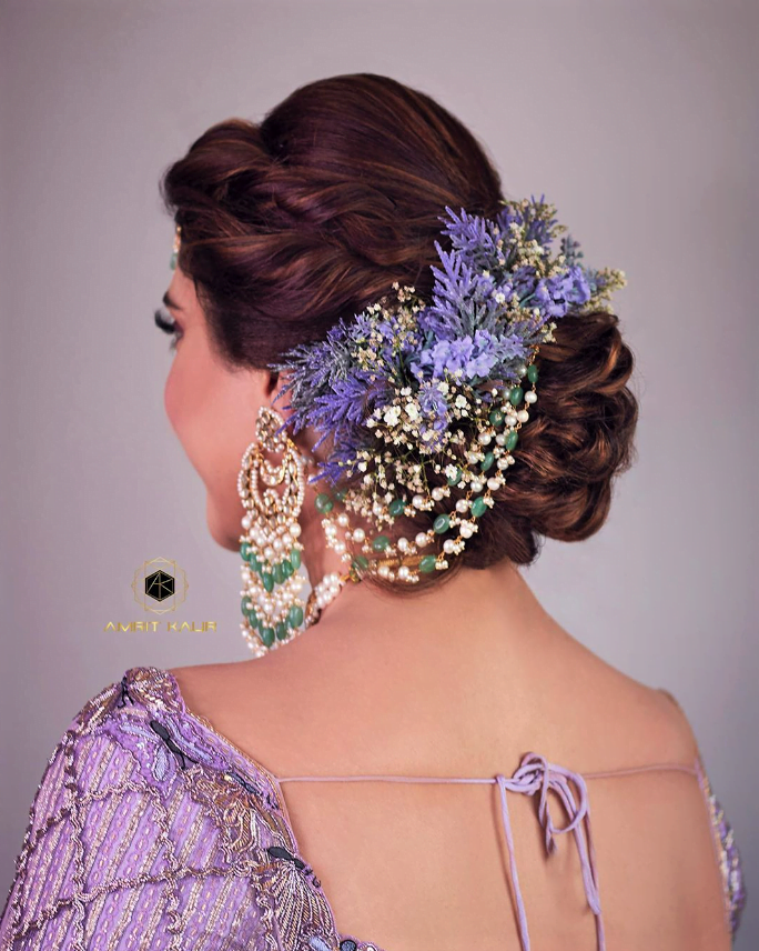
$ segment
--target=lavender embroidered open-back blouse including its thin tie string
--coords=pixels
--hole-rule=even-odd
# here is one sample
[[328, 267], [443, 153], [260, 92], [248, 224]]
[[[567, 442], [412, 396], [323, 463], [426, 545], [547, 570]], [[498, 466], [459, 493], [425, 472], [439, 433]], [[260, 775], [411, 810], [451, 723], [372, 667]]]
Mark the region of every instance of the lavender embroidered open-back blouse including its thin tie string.
[[[538, 793], [548, 852], [557, 834], [574, 833], [604, 951], [585, 779], [650, 769], [698, 778], [735, 935], [746, 902], [740, 853], [700, 754], [692, 767], [657, 763], [585, 777], [527, 753], [512, 777], [320, 779], [497, 783], [523, 951], [529, 934], [507, 792]], [[382, 951], [337, 931], [300, 853], [284, 781], [190, 713], [169, 671], [131, 668], [84, 704], [50, 757], [0, 919], [0, 951]], [[565, 827], [551, 822], [549, 789], [571, 817]]]

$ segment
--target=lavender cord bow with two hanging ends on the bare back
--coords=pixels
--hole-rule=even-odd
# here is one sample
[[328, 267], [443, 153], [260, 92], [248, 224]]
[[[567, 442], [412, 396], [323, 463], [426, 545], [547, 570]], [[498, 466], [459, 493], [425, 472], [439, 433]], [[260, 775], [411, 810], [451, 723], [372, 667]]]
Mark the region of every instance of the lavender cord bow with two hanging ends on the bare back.
[[[579, 790], [579, 805], [575, 803], [575, 797], [573, 795], [569, 780], [575, 782]], [[506, 834], [506, 844], [508, 845], [509, 867], [512, 881], [514, 883], [517, 914], [519, 918], [519, 939], [522, 941], [523, 951], [529, 951], [529, 932], [527, 930], [525, 905], [519, 890], [519, 877], [517, 874], [516, 858], [514, 854], [514, 839], [512, 835], [512, 824], [508, 818], [506, 790], [512, 790], [513, 792], [525, 792], [528, 795], [533, 795], [538, 790], [540, 791], [538, 818], [545, 830], [547, 854], [550, 855], [557, 848], [557, 843], [554, 838], [556, 834], [569, 831], [575, 833], [575, 841], [577, 843], [580, 864], [583, 867], [585, 894], [587, 895], [590, 909], [596, 915], [598, 951], [606, 951], [604, 921], [601, 918], [600, 898], [598, 894], [598, 873], [595, 868], [596, 854], [593, 848], [593, 837], [590, 833], [588, 791], [581, 774], [557, 765], [556, 763], [550, 763], [545, 759], [545, 757], [537, 753], [526, 753], [513, 777], [507, 778], [503, 773], [496, 773], [495, 781], [500, 790], [500, 814], [504, 823], [504, 832]], [[548, 810], [549, 789], [553, 789], [558, 793], [565, 809], [567, 810], [567, 814], [571, 817], [570, 822], [560, 829], [554, 825]], [[580, 828], [583, 820], [585, 820], [587, 849]]]

